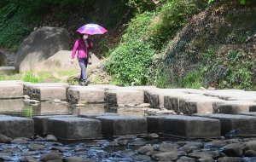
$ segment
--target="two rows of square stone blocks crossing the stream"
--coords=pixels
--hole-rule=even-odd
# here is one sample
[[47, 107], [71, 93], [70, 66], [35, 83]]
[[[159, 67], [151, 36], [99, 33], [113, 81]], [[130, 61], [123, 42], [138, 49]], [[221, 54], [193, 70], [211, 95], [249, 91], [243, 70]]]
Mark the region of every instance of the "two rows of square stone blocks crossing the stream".
[[[73, 107], [104, 103], [116, 112], [83, 113], [79, 116], [44, 116], [33, 119], [0, 116], [0, 134], [15, 136], [9, 125], [27, 122], [27, 134], [53, 134], [60, 139], [92, 139], [108, 136], [165, 134], [185, 138], [224, 136], [241, 129], [236, 136], [256, 136], [256, 92], [245, 90], [159, 89], [154, 86], [119, 87], [108, 84], [78, 86], [61, 83], [32, 84], [18, 80], [0, 81], [0, 107], [20, 108], [20, 101], [67, 101]], [[17, 104], [11, 107], [10, 99]], [[141, 116], [127, 115], [137, 111]], [[14, 122], [15, 124], [11, 124]], [[20, 132], [19, 132], [20, 131]], [[75, 132], [75, 133], [74, 133]], [[72, 134], [73, 133], [73, 134]]]

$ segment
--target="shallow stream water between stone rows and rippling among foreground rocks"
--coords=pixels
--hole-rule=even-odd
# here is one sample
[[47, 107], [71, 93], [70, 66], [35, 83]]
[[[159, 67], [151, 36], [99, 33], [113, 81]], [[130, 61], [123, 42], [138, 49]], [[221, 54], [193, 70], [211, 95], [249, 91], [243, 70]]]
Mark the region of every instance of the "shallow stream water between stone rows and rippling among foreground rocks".
[[[88, 104], [84, 107], [71, 107], [67, 102], [54, 102], [54, 101], [43, 101], [41, 103], [36, 102], [25, 102], [23, 100], [0, 100], [0, 114], [32, 118], [33, 116], [38, 115], [76, 115], [78, 116], [81, 113], [119, 113], [120, 115], [136, 115], [136, 116], [145, 116], [143, 108], [134, 108], [134, 107], [113, 107], [106, 104]], [[184, 139], [172, 138], [170, 136], [160, 136], [157, 139], [145, 140], [138, 138], [137, 140], [142, 140], [146, 142], [146, 145], [152, 145], [154, 148], [158, 148], [160, 143], [168, 142], [177, 142], [183, 141]], [[200, 139], [199, 142], [203, 142]], [[193, 141], [197, 141], [194, 139]], [[46, 146], [44, 150], [38, 150], [37, 153], [32, 154], [31, 156], [40, 159], [40, 157], [55, 148], [64, 149], [63, 157], [82, 157], [84, 159], [90, 159], [101, 162], [119, 162], [119, 161], [141, 161], [141, 162], [153, 162], [152, 159], [143, 159], [137, 155], [137, 149], [142, 146], [131, 146], [128, 142], [126, 146], [113, 147], [109, 146], [109, 142], [113, 142], [114, 139], [110, 139], [107, 136], [102, 136], [102, 140], [99, 141], [58, 141], [63, 144], [63, 146], [55, 146], [55, 142], [36, 142], [32, 141], [30, 143], [42, 143]], [[134, 140], [133, 140], [134, 141]], [[191, 142], [191, 141], [190, 141]], [[194, 150], [195, 152], [200, 152], [202, 150], [215, 150], [220, 152], [219, 148], [209, 148], [206, 145], [206, 142], [203, 142], [204, 148], [199, 150]], [[26, 144], [0, 144], [0, 153], [12, 151], [13, 155], [6, 156], [4, 161], [19, 161], [23, 157], [22, 153], [29, 152]], [[137, 155], [134, 157], [132, 155]], [[0, 154], [0, 157], [2, 155]], [[179, 159], [183, 159], [183, 156]], [[244, 162], [256, 161], [255, 157], [242, 158]], [[1, 161], [1, 160], [0, 160]], [[217, 160], [215, 160], [217, 161]]]

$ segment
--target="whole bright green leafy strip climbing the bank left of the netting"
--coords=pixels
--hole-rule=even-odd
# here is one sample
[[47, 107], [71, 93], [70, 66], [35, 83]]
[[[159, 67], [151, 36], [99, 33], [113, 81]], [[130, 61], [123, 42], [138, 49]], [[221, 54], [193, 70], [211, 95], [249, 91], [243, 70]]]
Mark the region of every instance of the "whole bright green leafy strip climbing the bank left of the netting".
[[[182, 28], [199, 9], [193, 1], [166, 1], [161, 8], [137, 14], [125, 30], [119, 46], [111, 51], [106, 68], [115, 84], [154, 84], [154, 61], [165, 49], [166, 41]], [[177, 14], [178, 12], [178, 14]]]

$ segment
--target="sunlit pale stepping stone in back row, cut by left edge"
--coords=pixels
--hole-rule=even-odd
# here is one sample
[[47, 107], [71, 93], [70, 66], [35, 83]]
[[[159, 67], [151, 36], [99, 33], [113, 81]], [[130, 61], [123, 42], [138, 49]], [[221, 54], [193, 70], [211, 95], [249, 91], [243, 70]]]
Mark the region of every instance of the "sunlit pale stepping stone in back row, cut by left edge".
[[0, 82], [0, 99], [20, 99], [23, 96], [23, 85], [15, 82]]

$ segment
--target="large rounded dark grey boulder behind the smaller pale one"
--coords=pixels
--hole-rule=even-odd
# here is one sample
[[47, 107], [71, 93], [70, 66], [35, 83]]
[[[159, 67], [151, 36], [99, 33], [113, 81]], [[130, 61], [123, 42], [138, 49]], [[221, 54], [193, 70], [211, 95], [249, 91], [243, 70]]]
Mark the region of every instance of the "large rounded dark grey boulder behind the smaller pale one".
[[69, 34], [59, 27], [44, 26], [32, 32], [15, 55], [16, 72], [33, 70], [59, 50], [69, 50]]

